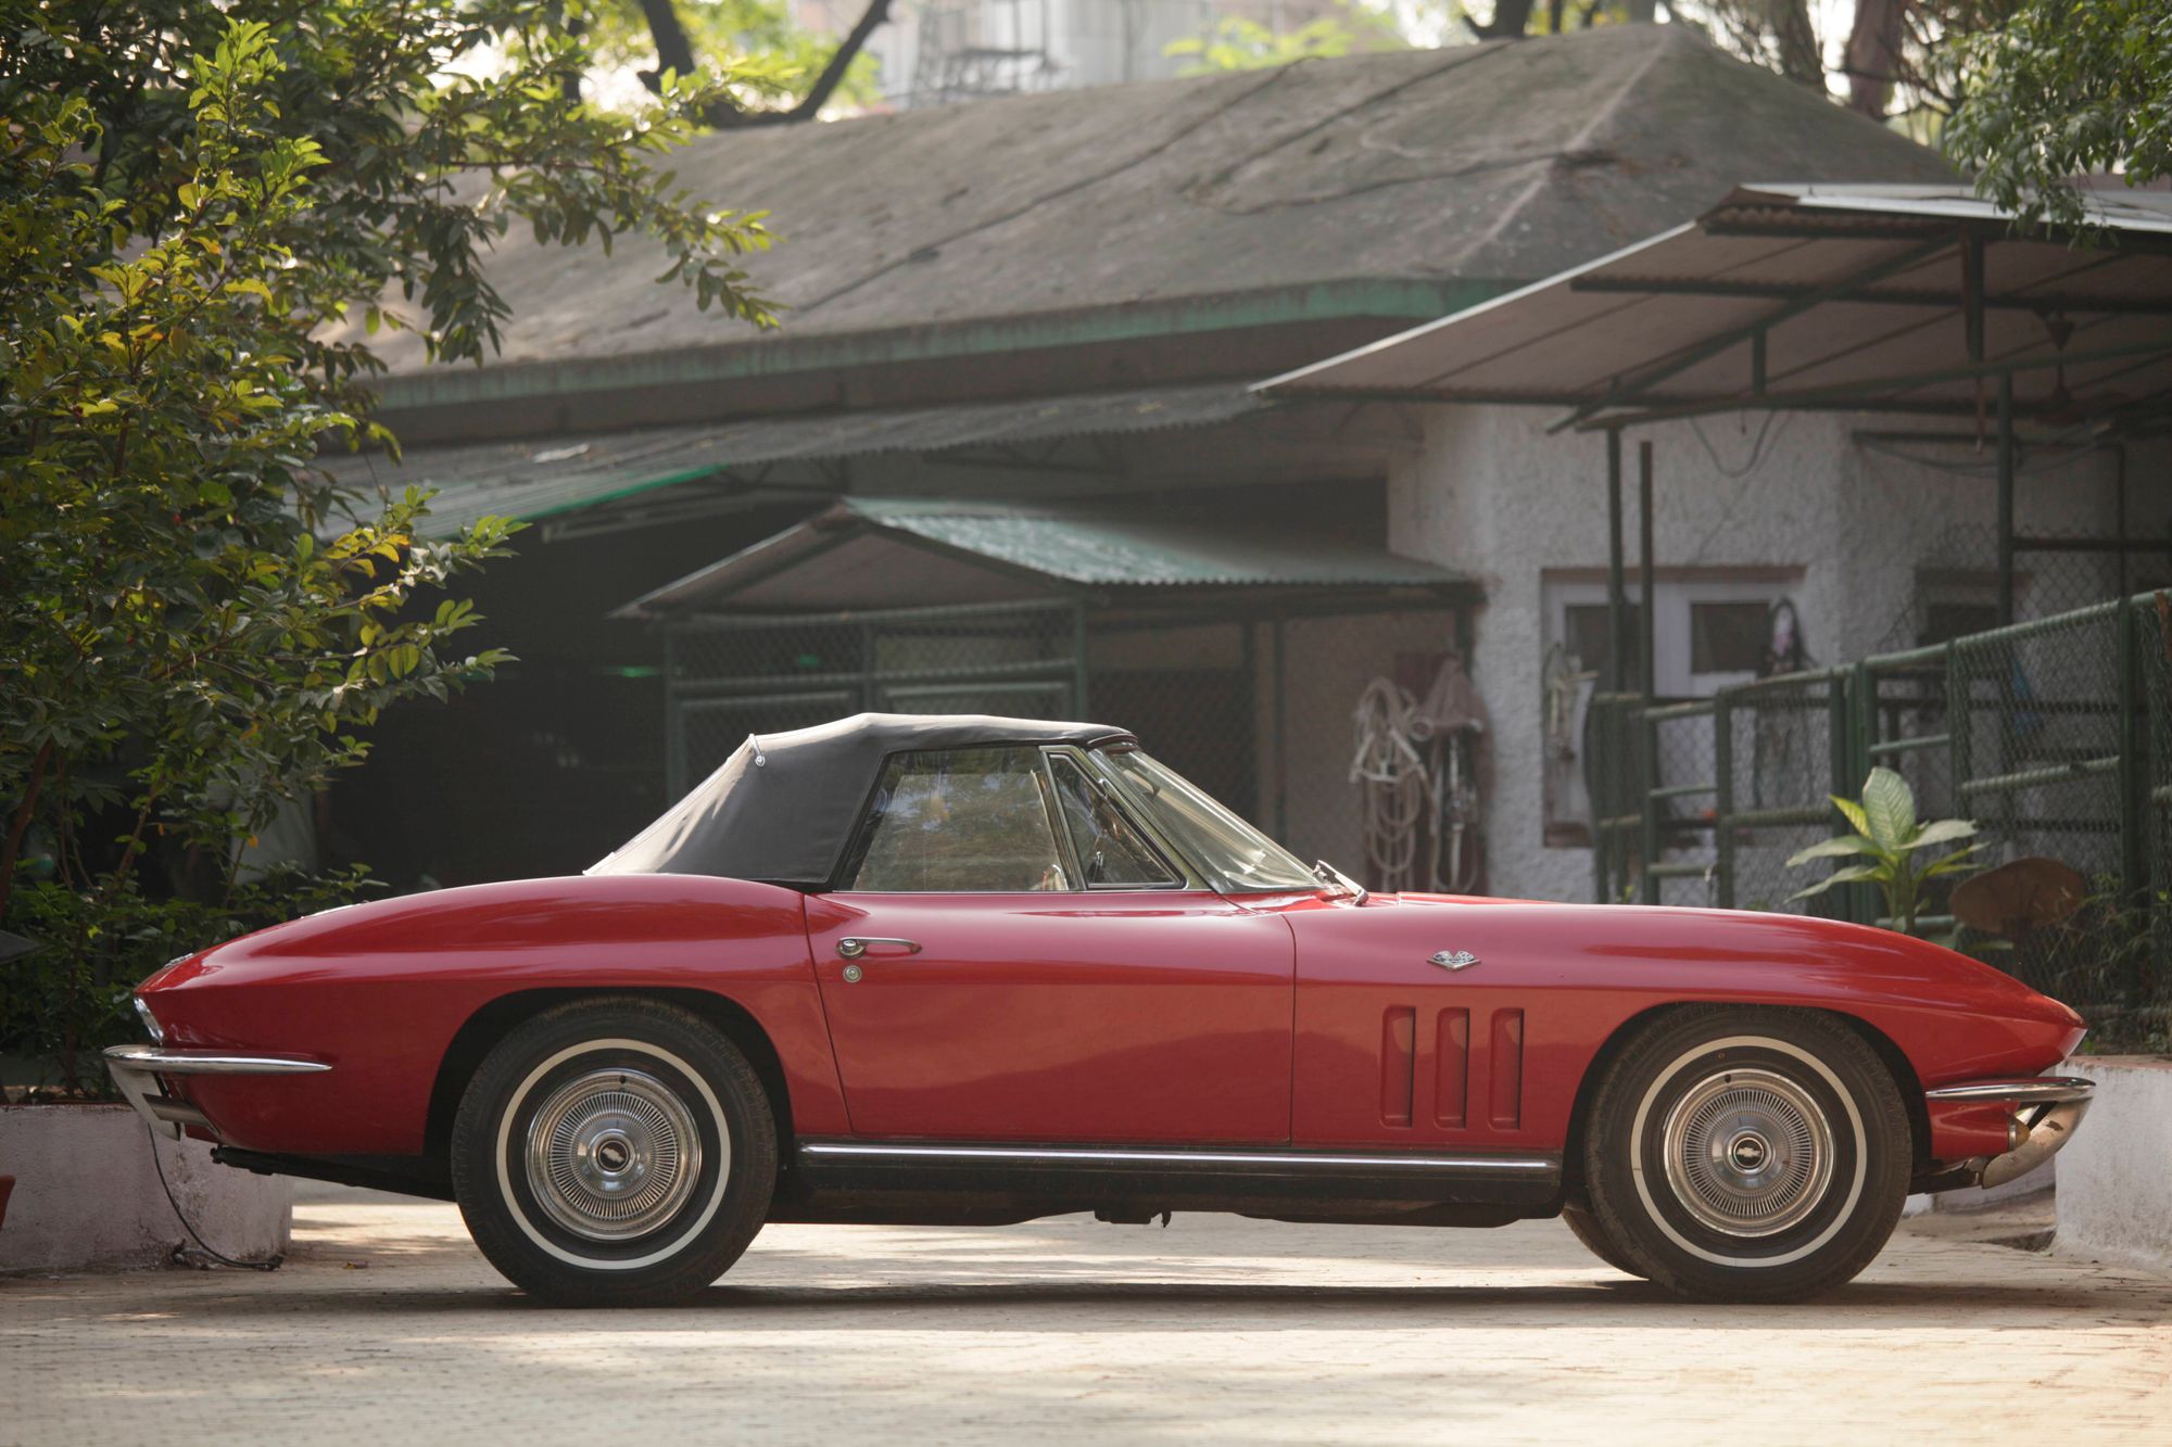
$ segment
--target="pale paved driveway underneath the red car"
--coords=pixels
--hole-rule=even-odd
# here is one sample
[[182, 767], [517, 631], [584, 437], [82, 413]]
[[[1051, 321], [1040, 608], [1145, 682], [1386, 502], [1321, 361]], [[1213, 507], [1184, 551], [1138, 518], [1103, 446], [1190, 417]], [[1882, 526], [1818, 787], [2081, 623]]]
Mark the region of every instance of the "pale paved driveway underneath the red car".
[[317, 1199], [274, 1275], [0, 1280], [0, 1443], [2172, 1432], [2172, 1278], [1922, 1232], [1794, 1308], [1677, 1304], [1551, 1221], [771, 1228], [725, 1282], [547, 1310], [450, 1206]]

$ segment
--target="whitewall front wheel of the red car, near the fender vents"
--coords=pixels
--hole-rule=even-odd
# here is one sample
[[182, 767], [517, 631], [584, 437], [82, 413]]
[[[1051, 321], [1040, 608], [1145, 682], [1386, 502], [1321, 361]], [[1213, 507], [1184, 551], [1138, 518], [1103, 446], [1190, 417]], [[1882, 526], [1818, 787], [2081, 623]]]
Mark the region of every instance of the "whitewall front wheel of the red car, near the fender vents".
[[1605, 1238], [1707, 1301], [1792, 1301], [1853, 1280], [1892, 1236], [1914, 1136], [1885, 1062], [1809, 1010], [1699, 1006], [1614, 1058], [1583, 1132]]

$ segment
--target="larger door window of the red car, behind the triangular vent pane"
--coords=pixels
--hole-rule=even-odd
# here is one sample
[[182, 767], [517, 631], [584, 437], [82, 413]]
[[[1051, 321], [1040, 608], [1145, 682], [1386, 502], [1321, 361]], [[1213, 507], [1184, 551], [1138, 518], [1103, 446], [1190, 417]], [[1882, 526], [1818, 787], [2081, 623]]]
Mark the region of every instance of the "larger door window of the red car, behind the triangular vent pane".
[[882, 769], [847, 889], [882, 893], [1071, 889], [1040, 752], [897, 754]]

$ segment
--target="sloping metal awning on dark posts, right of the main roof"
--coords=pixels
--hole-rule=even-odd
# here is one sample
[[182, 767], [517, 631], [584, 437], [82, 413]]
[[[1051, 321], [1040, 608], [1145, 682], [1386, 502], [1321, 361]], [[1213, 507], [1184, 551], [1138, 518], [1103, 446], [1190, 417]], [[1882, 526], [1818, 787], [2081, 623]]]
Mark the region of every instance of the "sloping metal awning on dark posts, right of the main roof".
[[2161, 421], [2172, 196], [2070, 246], [1966, 187], [1757, 185], [1551, 280], [1277, 376], [1277, 398], [1525, 402], [1620, 428], [1716, 411]]

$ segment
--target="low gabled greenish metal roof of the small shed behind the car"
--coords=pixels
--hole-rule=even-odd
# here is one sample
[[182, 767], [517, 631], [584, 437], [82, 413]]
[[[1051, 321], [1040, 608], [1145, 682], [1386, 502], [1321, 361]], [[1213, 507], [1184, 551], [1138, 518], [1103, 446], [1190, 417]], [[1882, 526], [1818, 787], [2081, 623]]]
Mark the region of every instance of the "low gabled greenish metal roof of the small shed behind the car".
[[1470, 593], [1431, 563], [1110, 508], [847, 498], [797, 528], [665, 584], [615, 617], [1001, 604], [1049, 595], [1151, 600], [1201, 591], [1349, 597]]

